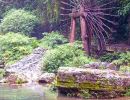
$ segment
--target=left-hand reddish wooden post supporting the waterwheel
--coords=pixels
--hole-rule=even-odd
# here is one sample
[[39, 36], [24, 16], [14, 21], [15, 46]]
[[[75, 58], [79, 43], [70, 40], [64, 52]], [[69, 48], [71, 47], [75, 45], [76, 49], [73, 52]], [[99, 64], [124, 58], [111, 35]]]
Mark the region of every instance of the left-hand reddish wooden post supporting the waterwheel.
[[70, 33], [70, 43], [75, 41], [75, 32], [76, 32], [76, 19], [72, 17], [71, 19], [71, 33]]

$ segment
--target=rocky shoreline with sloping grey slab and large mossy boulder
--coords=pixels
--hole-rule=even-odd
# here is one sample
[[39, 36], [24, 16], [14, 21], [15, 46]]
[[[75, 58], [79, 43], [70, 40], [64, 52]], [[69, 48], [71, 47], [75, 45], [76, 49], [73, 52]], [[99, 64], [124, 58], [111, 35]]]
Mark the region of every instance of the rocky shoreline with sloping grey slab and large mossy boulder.
[[36, 48], [32, 54], [9, 67], [5, 67], [4, 62], [0, 63], [1, 68], [6, 72], [0, 83], [51, 84], [55, 80], [55, 86], [60, 93], [88, 90], [96, 98], [121, 96], [130, 87], [130, 75], [118, 71], [119, 68], [115, 64], [107, 62], [93, 62], [79, 68], [60, 67], [57, 75], [42, 72], [42, 59], [46, 51], [41, 47]]

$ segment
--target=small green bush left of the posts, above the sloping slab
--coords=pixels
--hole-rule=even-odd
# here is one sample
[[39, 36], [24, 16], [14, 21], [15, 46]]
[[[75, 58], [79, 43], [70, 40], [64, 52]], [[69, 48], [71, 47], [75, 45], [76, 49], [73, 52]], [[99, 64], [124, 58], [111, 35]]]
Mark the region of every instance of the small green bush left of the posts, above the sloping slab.
[[67, 43], [68, 40], [58, 32], [43, 33], [45, 36], [41, 40], [40, 46], [45, 48], [55, 48], [58, 45]]

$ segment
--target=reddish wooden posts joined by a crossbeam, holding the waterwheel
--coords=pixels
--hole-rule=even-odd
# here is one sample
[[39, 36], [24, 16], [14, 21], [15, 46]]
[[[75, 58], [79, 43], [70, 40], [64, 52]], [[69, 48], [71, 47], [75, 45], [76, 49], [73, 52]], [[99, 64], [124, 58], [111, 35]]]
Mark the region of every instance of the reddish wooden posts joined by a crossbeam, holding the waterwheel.
[[80, 26], [81, 26], [81, 38], [83, 43], [83, 48], [86, 54], [91, 55], [91, 36], [89, 31], [87, 31], [86, 20], [84, 16], [84, 7], [80, 7], [80, 12], [72, 11], [71, 16], [71, 33], [70, 33], [70, 43], [75, 41], [75, 32], [76, 32], [76, 18], [80, 18]]

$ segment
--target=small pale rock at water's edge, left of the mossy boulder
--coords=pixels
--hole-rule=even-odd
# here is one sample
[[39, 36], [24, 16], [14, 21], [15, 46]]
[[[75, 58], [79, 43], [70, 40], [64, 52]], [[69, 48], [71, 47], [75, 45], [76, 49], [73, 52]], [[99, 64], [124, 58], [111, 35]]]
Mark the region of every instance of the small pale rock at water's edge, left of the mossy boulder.
[[40, 76], [38, 79], [39, 83], [51, 83], [55, 79], [55, 74], [54, 73], [44, 73]]

